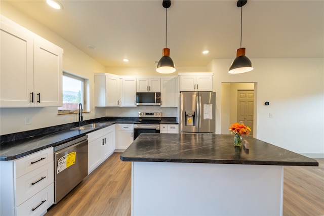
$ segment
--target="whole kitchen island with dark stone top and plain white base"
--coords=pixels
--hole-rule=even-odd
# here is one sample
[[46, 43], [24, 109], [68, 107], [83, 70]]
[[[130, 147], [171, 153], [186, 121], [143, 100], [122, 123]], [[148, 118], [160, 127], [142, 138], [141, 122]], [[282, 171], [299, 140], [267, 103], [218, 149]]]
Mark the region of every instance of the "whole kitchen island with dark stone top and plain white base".
[[120, 156], [132, 161], [132, 215], [282, 215], [284, 166], [314, 159], [254, 138], [141, 134]]

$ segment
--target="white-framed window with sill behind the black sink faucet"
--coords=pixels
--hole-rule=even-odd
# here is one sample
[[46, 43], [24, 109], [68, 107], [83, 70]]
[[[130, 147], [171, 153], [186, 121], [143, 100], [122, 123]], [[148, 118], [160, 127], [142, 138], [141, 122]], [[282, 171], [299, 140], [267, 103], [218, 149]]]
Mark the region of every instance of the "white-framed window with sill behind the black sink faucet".
[[63, 71], [63, 106], [58, 107], [58, 113], [78, 112], [79, 103], [85, 110], [86, 79]]

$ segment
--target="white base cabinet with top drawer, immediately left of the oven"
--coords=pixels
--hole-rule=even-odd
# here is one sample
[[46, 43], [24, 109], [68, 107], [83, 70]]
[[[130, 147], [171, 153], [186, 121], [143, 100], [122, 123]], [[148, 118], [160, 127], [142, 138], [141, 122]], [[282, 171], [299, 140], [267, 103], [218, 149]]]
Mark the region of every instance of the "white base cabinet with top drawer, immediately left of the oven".
[[134, 141], [134, 124], [116, 124], [118, 141], [116, 149], [127, 149]]

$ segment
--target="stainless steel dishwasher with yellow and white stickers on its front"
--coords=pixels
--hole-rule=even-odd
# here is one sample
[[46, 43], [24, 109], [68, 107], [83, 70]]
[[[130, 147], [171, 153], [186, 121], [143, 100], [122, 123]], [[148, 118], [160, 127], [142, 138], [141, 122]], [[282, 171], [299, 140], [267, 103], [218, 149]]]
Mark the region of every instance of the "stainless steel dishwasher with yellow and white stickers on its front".
[[54, 203], [88, 175], [88, 135], [54, 147]]

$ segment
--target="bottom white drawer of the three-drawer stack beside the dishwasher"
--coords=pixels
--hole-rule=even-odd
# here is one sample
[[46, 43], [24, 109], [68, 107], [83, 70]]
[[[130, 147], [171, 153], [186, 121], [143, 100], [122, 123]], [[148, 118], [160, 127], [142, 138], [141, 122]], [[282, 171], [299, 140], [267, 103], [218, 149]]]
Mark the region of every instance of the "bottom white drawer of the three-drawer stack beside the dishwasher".
[[16, 215], [42, 215], [54, 204], [54, 183], [16, 207]]

